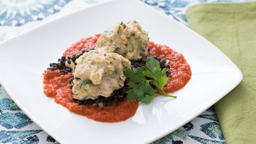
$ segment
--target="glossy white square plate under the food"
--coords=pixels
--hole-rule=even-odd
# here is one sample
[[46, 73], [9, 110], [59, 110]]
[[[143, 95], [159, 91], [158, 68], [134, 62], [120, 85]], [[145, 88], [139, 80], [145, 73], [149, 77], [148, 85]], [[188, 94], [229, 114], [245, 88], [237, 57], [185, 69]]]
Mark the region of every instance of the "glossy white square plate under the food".
[[[177, 99], [139, 104], [134, 117], [102, 123], [71, 113], [43, 93], [43, 72], [67, 47], [136, 20], [150, 40], [182, 53], [192, 77]], [[66, 15], [0, 44], [0, 82], [15, 103], [43, 130], [65, 143], [149, 143], [189, 122], [242, 80], [238, 67], [206, 39], [137, 0], [115, 0]]]

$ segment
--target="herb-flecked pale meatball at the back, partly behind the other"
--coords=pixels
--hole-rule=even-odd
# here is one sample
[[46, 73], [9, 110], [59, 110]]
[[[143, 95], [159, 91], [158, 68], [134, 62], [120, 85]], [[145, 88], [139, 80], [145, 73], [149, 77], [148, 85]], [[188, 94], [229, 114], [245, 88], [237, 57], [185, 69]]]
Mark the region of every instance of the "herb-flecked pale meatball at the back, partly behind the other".
[[147, 55], [148, 33], [136, 22], [117, 23], [105, 30], [97, 40], [95, 49], [108, 46], [107, 50], [118, 53], [130, 61], [140, 60]]

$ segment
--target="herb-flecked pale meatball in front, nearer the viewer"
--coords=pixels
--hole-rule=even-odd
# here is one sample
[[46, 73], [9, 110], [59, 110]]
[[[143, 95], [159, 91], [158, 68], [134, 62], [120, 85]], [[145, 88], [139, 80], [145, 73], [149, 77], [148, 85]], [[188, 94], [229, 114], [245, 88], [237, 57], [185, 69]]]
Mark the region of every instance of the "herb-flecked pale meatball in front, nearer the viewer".
[[75, 62], [75, 99], [96, 99], [99, 95], [109, 97], [114, 90], [124, 86], [123, 71], [131, 68], [131, 62], [122, 55], [103, 49], [90, 50]]

